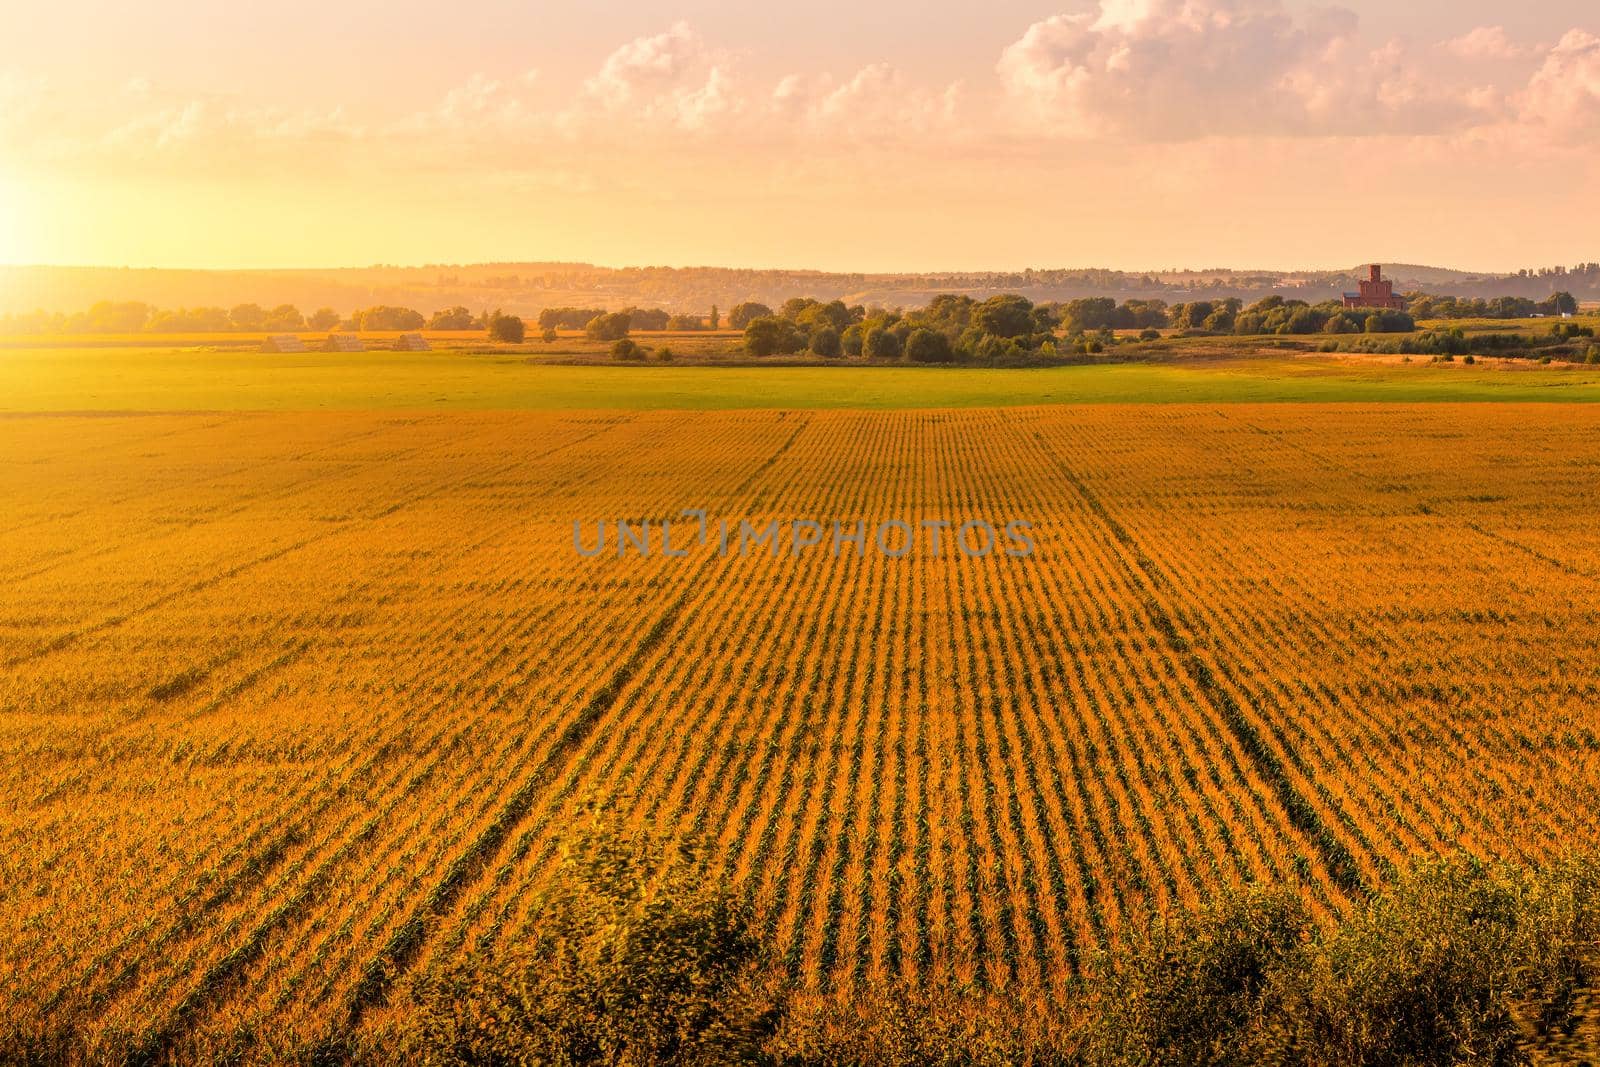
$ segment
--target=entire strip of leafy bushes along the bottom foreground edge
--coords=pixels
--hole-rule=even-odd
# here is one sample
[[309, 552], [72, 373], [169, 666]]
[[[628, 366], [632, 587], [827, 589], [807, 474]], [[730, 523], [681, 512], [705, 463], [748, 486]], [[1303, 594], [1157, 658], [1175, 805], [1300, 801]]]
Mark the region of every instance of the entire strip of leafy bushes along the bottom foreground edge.
[[1517, 1064], [1600, 979], [1594, 859], [1432, 862], [1331, 921], [1302, 894], [1174, 913], [1066, 995], [891, 981], [842, 1000], [779, 985], [693, 854], [590, 832], [523, 939], [422, 974], [371, 1062]]

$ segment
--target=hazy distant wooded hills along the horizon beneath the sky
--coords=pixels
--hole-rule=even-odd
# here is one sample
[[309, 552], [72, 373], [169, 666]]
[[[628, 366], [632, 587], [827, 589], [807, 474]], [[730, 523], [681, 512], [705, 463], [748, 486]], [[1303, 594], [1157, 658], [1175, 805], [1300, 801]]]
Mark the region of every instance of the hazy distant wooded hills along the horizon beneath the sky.
[[[1448, 296], [1526, 296], [1558, 290], [1581, 301], [1600, 299], [1600, 264], [1485, 275], [1443, 267], [1386, 266], [1400, 291]], [[827, 274], [821, 270], [741, 270], [728, 267], [595, 267], [581, 262], [496, 262], [424, 267], [342, 267], [304, 270], [165, 270], [128, 267], [0, 267], [0, 314], [77, 312], [96, 301], [141, 301], [157, 307], [294, 304], [349, 314], [373, 304], [430, 314], [464, 306], [536, 315], [544, 307], [662, 307], [725, 312], [741, 301], [779, 304], [790, 296], [850, 304], [917, 307], [939, 293], [982, 298], [1021, 293], [1035, 302], [1085, 296], [1168, 302], [1269, 294], [1322, 301], [1354, 288], [1365, 267], [1350, 270], [1152, 270], [1048, 269], [1011, 272]]]

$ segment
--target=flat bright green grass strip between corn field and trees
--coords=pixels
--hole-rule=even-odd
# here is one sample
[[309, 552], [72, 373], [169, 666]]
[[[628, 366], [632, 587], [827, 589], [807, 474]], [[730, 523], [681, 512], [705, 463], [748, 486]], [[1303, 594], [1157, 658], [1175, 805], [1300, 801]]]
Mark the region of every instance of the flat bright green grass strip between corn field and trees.
[[1053, 403], [1590, 402], [1600, 368], [1246, 357], [974, 370], [563, 366], [507, 355], [0, 349], [0, 411], [982, 408]]

